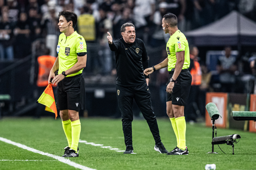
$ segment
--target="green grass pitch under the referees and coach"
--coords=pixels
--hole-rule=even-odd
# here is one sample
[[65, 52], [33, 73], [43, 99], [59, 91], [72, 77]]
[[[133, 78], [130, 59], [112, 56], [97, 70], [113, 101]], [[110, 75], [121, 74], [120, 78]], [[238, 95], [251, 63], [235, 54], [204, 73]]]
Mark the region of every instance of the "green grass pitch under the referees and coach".
[[[154, 139], [145, 120], [134, 120], [133, 147], [136, 154], [123, 154], [109, 148], [93, 146], [101, 144], [125, 150], [121, 119], [86, 118], [81, 121], [79, 157], [70, 161], [93, 169], [205, 169], [206, 164], [216, 164], [217, 170], [256, 169], [256, 134], [240, 130], [217, 129], [217, 136], [240, 134], [240, 142], [232, 146], [215, 145], [211, 152], [211, 127], [203, 124], [187, 124], [186, 145], [189, 155], [165, 155], [154, 150]], [[168, 118], [159, 118], [158, 126], [162, 142], [171, 151], [176, 146], [176, 137]], [[217, 127], [218, 128], [218, 127]], [[61, 156], [67, 146], [60, 118], [3, 118], [0, 120], [0, 137], [39, 151]], [[0, 141], [0, 169], [76, 169], [49, 156]], [[67, 158], [63, 158], [67, 159]], [[27, 161], [25, 161], [27, 160]]]

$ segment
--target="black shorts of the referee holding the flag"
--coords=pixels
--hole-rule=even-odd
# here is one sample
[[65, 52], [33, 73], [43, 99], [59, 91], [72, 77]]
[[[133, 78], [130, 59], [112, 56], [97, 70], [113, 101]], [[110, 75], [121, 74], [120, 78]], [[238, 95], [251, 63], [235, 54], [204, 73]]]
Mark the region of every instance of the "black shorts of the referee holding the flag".
[[56, 107], [59, 110], [85, 109], [85, 83], [82, 74], [65, 77], [58, 83]]

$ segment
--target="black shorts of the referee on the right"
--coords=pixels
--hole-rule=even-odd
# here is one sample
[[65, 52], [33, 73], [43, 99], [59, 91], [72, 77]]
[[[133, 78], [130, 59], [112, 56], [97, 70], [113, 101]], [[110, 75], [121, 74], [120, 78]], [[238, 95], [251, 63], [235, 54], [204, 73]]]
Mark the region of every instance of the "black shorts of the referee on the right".
[[[169, 71], [169, 78], [166, 86], [170, 82], [170, 78], [174, 73], [174, 68]], [[189, 91], [192, 82], [192, 76], [188, 69], [181, 70], [180, 75], [176, 79], [177, 83], [174, 83], [172, 93], [166, 92], [166, 102], [172, 101], [175, 105], [186, 105], [189, 98]]]

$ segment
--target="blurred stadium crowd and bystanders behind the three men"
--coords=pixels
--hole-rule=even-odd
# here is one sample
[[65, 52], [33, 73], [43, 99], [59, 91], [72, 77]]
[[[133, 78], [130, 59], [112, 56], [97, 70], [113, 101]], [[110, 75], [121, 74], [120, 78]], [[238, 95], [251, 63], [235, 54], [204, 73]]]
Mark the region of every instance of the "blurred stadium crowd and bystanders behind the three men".
[[[177, 16], [178, 28], [182, 32], [212, 23], [232, 10], [256, 21], [256, 0], [0, 0], [0, 8], [0, 62], [23, 59], [33, 50], [37, 50], [35, 57], [45, 55], [48, 52], [46, 48], [50, 49], [52, 56], [57, 56], [56, 46], [60, 35], [58, 14], [60, 11], [70, 10], [78, 15], [75, 30], [84, 36], [87, 43], [85, 75], [95, 77], [116, 74], [114, 53], [110, 51], [106, 37], [108, 31], [113, 40], [120, 38], [120, 28], [124, 23], [135, 25], [136, 38], [144, 41], [151, 66], [167, 57], [165, 45], [169, 36], [164, 34], [161, 26], [165, 14], [173, 13]], [[33, 46], [38, 40], [39, 44]], [[206, 67], [205, 59], [200, 60], [198, 57], [199, 51], [192, 48], [193, 44], [189, 46], [191, 61], [198, 62], [202, 72], [200, 84], [192, 86], [195, 86], [198, 90], [196, 94], [202, 99], [197, 101], [199, 108], [196, 111], [203, 116], [205, 92], [243, 92], [236, 91], [240, 86], [238, 83], [235, 86], [235, 81], [231, 79], [238, 75], [238, 61], [229, 57], [231, 49], [226, 47], [226, 53], [216, 67], [220, 76], [216, 80], [216, 76]], [[254, 74], [255, 60], [255, 57], [250, 58]], [[152, 75], [150, 81], [155, 82], [159, 89], [165, 89], [166, 75], [168, 76], [167, 69], [162, 69]], [[229, 82], [225, 82], [225, 76], [229, 77]], [[225, 88], [220, 88], [220, 85]], [[164, 90], [159, 90], [164, 105], [163, 92]]]

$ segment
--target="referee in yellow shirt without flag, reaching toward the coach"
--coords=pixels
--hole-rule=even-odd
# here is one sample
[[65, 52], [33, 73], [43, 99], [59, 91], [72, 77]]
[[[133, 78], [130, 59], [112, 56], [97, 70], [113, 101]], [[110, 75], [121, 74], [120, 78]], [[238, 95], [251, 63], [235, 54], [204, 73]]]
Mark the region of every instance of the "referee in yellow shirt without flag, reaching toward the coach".
[[176, 15], [164, 15], [162, 27], [165, 34], [170, 34], [170, 38], [166, 44], [168, 57], [158, 65], [145, 69], [144, 74], [149, 75], [155, 70], [168, 67], [169, 78], [166, 84], [166, 111], [176, 135], [177, 146], [166, 154], [188, 155], [184, 105], [187, 104], [192, 82], [192, 76], [188, 70], [190, 65], [189, 44], [184, 34], [178, 30]]

